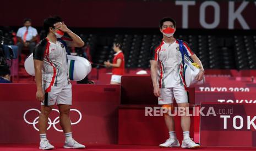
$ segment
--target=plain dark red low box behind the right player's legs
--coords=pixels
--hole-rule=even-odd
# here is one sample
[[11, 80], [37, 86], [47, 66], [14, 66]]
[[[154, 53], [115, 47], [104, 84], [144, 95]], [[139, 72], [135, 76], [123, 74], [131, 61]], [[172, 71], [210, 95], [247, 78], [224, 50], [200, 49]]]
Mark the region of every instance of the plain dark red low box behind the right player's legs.
[[[118, 112], [118, 144], [159, 145], [168, 136], [168, 129], [164, 116], [145, 115], [145, 105], [123, 105]], [[154, 107], [154, 106], [150, 106]], [[155, 106], [156, 107], [156, 106]], [[192, 109], [189, 113], [192, 113]], [[183, 140], [181, 117], [173, 117], [175, 131], [179, 142]], [[194, 131], [199, 127], [199, 116], [190, 117], [190, 137], [194, 138]], [[196, 140], [198, 141], [198, 140]]]

